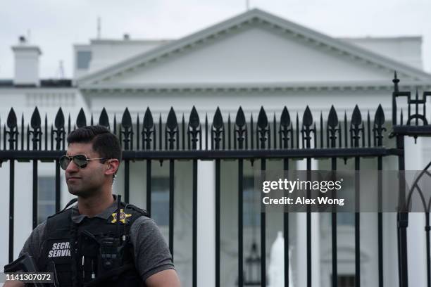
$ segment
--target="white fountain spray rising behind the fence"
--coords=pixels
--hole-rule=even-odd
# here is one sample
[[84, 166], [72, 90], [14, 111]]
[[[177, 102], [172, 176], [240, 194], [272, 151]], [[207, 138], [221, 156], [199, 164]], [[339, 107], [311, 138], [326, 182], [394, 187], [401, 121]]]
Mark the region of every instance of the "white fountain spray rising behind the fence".
[[[292, 284], [292, 264], [289, 249], [289, 287]], [[285, 286], [285, 239], [282, 231], [278, 231], [277, 238], [271, 246], [270, 264], [268, 269], [269, 287]]]

